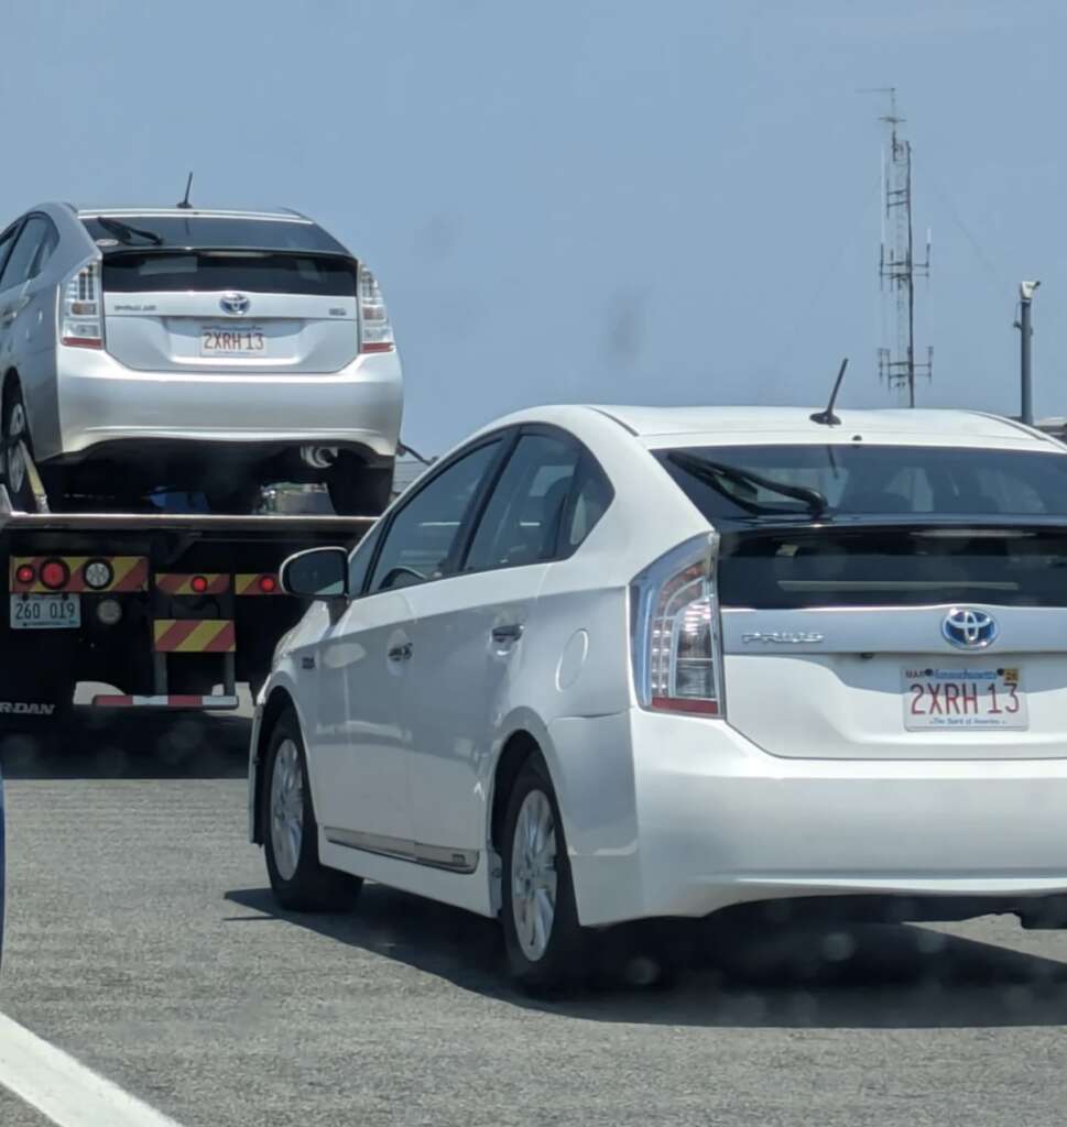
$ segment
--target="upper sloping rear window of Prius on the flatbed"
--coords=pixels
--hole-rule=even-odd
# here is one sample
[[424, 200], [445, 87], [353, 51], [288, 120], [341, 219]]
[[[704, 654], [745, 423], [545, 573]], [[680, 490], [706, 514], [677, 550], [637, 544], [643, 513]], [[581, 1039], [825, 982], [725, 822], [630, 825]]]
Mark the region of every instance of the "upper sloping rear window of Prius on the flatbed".
[[[219, 247], [257, 250], [311, 250], [326, 255], [349, 251], [315, 223], [290, 220], [240, 219], [224, 215], [136, 215], [109, 216], [116, 223], [151, 232], [166, 247]], [[117, 246], [144, 246], [143, 237], [116, 232], [106, 222], [86, 216], [81, 220], [94, 241], [104, 240], [106, 252]]]

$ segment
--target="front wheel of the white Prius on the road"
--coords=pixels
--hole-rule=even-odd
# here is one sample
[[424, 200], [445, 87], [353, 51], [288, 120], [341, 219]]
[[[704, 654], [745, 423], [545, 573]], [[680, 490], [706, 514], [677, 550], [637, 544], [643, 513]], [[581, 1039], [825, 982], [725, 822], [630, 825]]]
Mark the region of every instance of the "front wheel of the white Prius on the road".
[[264, 769], [264, 851], [275, 899], [292, 912], [350, 908], [363, 882], [319, 863], [307, 757], [292, 713], [274, 726]]

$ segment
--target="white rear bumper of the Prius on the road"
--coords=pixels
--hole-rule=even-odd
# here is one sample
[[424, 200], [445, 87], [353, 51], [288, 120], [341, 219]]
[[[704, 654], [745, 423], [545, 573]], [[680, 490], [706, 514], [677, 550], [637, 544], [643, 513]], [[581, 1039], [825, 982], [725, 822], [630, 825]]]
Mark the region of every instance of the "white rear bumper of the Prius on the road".
[[[782, 760], [717, 721], [606, 719], [630, 749], [630, 797], [608, 819], [563, 809], [583, 923], [792, 897], [1067, 893], [1067, 760]], [[566, 725], [553, 731], [563, 763]]]

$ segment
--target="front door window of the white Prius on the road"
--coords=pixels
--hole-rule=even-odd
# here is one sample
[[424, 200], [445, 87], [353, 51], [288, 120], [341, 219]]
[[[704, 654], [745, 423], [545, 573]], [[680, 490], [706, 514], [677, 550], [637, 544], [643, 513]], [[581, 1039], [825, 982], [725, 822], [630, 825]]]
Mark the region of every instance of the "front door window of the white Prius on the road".
[[496, 461], [501, 442], [495, 438], [446, 465], [397, 511], [374, 565], [370, 594], [449, 574], [464, 517]]

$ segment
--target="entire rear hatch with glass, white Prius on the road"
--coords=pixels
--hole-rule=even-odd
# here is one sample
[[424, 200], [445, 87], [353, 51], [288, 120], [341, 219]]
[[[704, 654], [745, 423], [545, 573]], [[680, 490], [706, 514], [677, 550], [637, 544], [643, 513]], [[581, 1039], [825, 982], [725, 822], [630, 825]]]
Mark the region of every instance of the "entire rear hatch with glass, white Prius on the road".
[[759, 472], [819, 489], [826, 509], [668, 467], [716, 511], [728, 721], [791, 758], [1067, 756], [1067, 458], [846, 449], [830, 467], [806, 447], [819, 480], [776, 449]]

